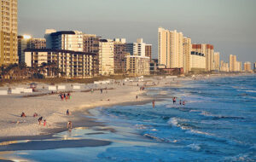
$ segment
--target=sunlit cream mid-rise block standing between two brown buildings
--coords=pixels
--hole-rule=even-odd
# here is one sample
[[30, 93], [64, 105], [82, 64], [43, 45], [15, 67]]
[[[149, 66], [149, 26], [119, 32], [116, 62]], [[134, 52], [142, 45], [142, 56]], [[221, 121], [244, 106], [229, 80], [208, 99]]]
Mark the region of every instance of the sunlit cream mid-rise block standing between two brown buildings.
[[113, 69], [113, 40], [101, 39], [99, 43], [99, 73], [100, 75], [113, 75]]

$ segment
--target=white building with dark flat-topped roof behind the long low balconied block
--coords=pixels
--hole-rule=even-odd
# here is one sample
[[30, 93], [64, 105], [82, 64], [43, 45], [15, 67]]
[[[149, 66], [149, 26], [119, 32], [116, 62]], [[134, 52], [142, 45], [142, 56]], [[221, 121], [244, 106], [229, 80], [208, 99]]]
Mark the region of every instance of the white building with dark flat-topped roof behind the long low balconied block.
[[84, 33], [79, 31], [60, 31], [47, 29], [44, 38], [47, 49], [63, 49], [73, 51], [84, 51]]

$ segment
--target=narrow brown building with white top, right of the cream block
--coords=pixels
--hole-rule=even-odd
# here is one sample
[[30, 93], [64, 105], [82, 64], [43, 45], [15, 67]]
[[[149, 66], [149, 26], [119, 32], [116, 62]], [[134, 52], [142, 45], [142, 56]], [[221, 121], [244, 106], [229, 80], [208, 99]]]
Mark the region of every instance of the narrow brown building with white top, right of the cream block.
[[113, 64], [114, 73], [125, 73], [125, 55], [126, 55], [126, 40], [125, 38], [113, 39]]

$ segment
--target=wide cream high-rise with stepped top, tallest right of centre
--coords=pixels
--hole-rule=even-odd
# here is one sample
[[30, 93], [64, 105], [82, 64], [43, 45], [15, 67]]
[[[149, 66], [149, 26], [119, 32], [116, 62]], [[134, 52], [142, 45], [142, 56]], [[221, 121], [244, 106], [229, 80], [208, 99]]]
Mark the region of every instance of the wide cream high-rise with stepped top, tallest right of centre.
[[159, 67], [183, 67], [183, 33], [158, 28]]

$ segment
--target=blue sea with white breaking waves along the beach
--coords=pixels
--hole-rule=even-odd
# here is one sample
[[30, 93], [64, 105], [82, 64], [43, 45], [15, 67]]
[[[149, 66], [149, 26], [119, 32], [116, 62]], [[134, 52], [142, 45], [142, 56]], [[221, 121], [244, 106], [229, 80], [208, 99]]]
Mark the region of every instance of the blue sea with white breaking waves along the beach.
[[[109, 146], [20, 151], [15, 156], [35, 161], [256, 161], [255, 75], [184, 81], [148, 91], [163, 94], [164, 101], [156, 101], [154, 108], [148, 103], [91, 110], [116, 132], [96, 127], [56, 135], [110, 140]], [[177, 96], [176, 104], [172, 96]]]

